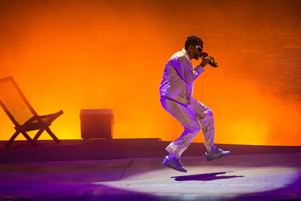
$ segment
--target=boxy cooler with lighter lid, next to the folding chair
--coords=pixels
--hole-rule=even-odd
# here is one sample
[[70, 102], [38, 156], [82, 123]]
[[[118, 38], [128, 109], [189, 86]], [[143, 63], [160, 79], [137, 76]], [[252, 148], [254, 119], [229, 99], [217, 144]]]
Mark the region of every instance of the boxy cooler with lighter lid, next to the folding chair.
[[82, 139], [113, 138], [114, 114], [112, 109], [81, 110]]

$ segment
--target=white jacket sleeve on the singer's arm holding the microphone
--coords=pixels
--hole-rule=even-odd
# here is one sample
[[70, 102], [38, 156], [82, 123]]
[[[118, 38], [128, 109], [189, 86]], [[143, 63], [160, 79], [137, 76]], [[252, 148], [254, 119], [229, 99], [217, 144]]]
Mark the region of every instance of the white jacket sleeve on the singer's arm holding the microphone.
[[186, 57], [177, 57], [174, 60], [174, 68], [177, 70], [180, 78], [187, 84], [193, 83], [193, 81], [205, 71], [203, 68], [193, 70], [191, 62], [188, 62]]

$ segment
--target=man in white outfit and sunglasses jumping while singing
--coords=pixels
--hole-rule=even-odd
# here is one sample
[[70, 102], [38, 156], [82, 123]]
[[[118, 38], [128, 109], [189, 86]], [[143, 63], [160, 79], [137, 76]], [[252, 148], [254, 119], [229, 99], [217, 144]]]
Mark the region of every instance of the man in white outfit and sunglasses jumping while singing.
[[179, 158], [201, 129], [207, 148], [207, 161], [230, 155], [230, 151], [217, 149], [213, 145], [214, 123], [211, 109], [192, 97], [193, 81], [211, 61], [210, 57], [202, 57], [200, 65], [192, 66], [190, 60], [198, 60], [202, 52], [203, 41], [196, 36], [189, 36], [185, 49], [172, 55], [166, 63], [160, 84], [160, 102], [163, 108], [184, 127], [182, 135], [167, 146], [166, 150], [170, 155], [165, 157], [163, 165], [181, 172], [187, 172], [187, 169], [182, 166]]

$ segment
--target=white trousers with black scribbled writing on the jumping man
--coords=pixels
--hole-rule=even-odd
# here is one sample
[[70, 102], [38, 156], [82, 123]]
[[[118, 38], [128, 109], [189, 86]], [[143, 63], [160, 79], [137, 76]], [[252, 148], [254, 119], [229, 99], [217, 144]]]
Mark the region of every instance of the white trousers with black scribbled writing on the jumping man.
[[[200, 101], [192, 98], [191, 105], [182, 105], [172, 100], [161, 98], [163, 108], [175, 117], [184, 127], [182, 135], [166, 147], [166, 150], [180, 157], [183, 151], [192, 143], [195, 136], [201, 130], [204, 134], [205, 146], [210, 148], [214, 141], [214, 123], [210, 108]], [[201, 125], [200, 125], [200, 123]]]

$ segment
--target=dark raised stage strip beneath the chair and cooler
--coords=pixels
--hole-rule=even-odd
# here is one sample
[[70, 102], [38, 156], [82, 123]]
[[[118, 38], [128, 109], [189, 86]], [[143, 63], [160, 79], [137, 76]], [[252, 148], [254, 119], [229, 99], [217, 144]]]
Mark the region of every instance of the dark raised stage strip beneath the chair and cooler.
[[[0, 141], [0, 164], [75, 160], [108, 160], [127, 158], [160, 158], [169, 153], [165, 148], [171, 143], [159, 138], [140, 139], [69, 139], [38, 140], [33, 147], [26, 140], [15, 140], [6, 147]], [[300, 153], [301, 146], [266, 146], [241, 144], [216, 144], [231, 155]], [[202, 156], [206, 152], [203, 143], [193, 142], [181, 157]]]

